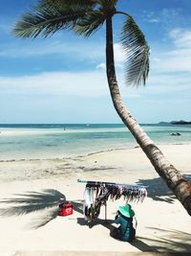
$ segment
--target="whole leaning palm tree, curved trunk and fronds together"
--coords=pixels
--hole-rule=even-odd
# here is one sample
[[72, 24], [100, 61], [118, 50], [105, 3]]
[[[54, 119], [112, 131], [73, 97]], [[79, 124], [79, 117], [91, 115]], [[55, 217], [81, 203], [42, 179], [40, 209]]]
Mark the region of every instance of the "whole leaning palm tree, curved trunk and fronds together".
[[128, 84], [145, 84], [149, 72], [149, 46], [133, 17], [117, 11], [118, 0], [38, 0], [30, 12], [16, 22], [13, 33], [19, 37], [46, 37], [68, 29], [89, 36], [106, 24], [106, 68], [113, 104], [122, 122], [132, 132], [158, 174], [191, 215], [191, 184], [166, 160], [163, 153], [139, 127], [120, 96], [114, 60], [113, 17], [125, 16], [121, 43], [127, 57]]

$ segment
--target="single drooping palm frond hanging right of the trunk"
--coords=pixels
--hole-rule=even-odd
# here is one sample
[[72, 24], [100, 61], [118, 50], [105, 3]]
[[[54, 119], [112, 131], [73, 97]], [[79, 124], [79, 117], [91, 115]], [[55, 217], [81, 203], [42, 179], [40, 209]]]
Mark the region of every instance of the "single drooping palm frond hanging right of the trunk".
[[144, 85], [149, 73], [150, 49], [132, 16], [128, 16], [124, 23], [121, 42], [127, 57], [128, 84]]

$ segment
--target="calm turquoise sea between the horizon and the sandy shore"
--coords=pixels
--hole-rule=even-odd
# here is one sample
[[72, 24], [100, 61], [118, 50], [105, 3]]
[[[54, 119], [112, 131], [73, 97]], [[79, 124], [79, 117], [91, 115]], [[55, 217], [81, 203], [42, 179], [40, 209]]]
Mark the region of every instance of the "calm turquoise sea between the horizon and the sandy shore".
[[[140, 126], [157, 145], [191, 143], [190, 125]], [[0, 124], [0, 161], [66, 158], [137, 146], [123, 124]]]

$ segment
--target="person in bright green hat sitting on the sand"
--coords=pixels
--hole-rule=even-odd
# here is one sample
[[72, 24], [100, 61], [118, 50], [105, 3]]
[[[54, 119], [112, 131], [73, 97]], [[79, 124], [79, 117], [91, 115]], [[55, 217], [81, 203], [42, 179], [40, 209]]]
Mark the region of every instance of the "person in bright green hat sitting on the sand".
[[111, 237], [125, 242], [132, 242], [136, 237], [137, 219], [129, 203], [118, 207], [115, 222], [120, 225], [111, 231]]

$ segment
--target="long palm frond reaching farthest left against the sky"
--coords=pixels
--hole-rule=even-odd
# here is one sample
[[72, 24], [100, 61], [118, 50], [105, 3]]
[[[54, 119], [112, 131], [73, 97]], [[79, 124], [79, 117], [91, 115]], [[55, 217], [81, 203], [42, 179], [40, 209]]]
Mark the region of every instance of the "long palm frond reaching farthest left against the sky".
[[[84, 5], [79, 5], [79, 2], [84, 2]], [[40, 34], [46, 37], [61, 29], [73, 29], [86, 12], [92, 10], [92, 6], [93, 2], [89, 1], [88, 5], [87, 0], [41, 0], [39, 5], [32, 7], [31, 12], [23, 14], [12, 33], [18, 37], [36, 37]]]

